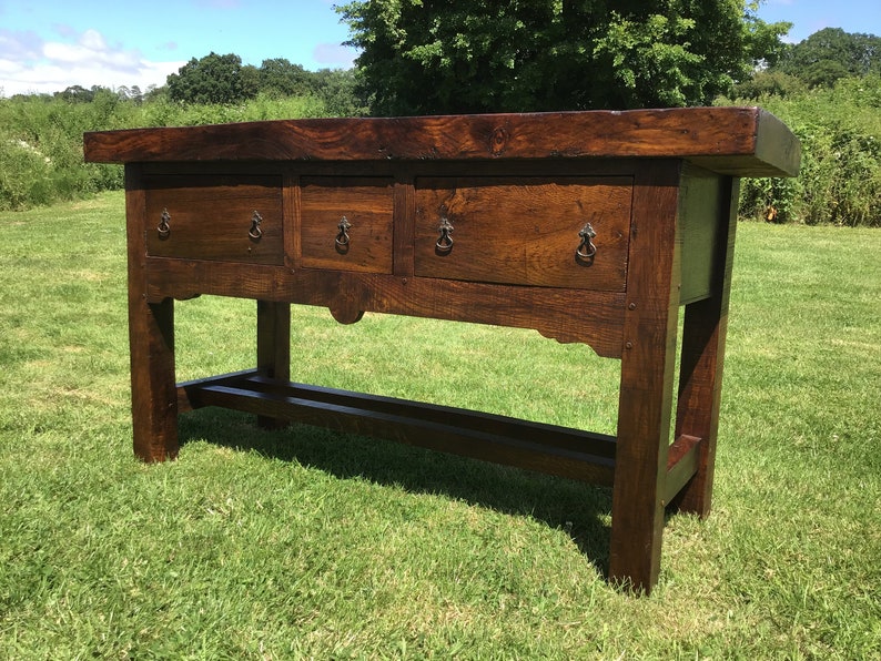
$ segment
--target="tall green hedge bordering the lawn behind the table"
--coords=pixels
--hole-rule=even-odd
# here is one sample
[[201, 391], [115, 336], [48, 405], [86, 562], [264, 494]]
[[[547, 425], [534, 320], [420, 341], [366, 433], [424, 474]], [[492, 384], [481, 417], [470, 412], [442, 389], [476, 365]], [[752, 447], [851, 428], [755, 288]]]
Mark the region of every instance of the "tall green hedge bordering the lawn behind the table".
[[[98, 90], [89, 102], [44, 95], [0, 99], [0, 209], [122, 187], [122, 167], [83, 163], [85, 131], [357, 114], [350, 78], [327, 72], [321, 79], [326, 84], [314, 94], [262, 93], [239, 104], [182, 104], [161, 91], [143, 103], [109, 90]], [[748, 96], [718, 100], [766, 108], [802, 145], [797, 179], [743, 181], [741, 216], [881, 226], [881, 75], [843, 79], [832, 89], [790, 83], [780, 77], [759, 80], [738, 88]]]

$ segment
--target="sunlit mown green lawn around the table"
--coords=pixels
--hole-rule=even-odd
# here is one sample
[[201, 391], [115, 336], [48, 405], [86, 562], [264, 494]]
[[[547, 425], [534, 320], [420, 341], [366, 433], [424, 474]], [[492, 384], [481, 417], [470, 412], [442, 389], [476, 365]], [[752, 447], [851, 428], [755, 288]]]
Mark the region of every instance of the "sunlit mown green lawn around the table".
[[[139, 464], [122, 195], [0, 228], [2, 658], [878, 658], [878, 231], [740, 225], [715, 511], [670, 518], [635, 599], [604, 489], [213, 409]], [[253, 316], [180, 304], [179, 377], [250, 366]], [[305, 382], [615, 428], [618, 364], [584, 346], [293, 326]]]

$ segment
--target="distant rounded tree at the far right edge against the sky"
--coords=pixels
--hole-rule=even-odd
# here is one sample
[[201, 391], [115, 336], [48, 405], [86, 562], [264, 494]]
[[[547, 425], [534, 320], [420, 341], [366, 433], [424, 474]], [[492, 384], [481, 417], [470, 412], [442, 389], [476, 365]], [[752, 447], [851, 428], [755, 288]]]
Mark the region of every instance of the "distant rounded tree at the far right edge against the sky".
[[840, 78], [881, 71], [881, 37], [826, 28], [790, 47], [779, 69], [812, 88], [831, 87]]

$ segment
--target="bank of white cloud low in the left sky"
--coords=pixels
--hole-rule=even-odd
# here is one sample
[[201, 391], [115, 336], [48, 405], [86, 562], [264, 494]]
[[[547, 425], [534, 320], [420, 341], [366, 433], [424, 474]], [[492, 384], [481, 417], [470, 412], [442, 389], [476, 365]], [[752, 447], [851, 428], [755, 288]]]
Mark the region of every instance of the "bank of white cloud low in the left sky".
[[152, 62], [141, 52], [108, 44], [87, 30], [71, 41], [42, 41], [32, 32], [0, 30], [0, 91], [3, 95], [53, 93], [72, 85], [117, 89], [163, 85], [185, 62]]

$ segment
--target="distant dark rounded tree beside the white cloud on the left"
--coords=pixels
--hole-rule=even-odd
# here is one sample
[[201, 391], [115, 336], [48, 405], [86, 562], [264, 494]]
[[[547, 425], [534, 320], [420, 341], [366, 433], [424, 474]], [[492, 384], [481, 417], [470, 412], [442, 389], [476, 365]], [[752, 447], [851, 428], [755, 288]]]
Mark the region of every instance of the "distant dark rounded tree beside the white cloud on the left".
[[[246, 78], [246, 77], [244, 77]], [[172, 101], [188, 103], [237, 103], [256, 94], [242, 75], [242, 59], [214, 52], [186, 64], [168, 77]]]

